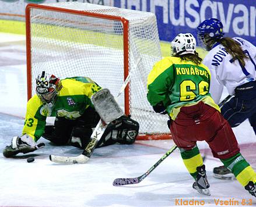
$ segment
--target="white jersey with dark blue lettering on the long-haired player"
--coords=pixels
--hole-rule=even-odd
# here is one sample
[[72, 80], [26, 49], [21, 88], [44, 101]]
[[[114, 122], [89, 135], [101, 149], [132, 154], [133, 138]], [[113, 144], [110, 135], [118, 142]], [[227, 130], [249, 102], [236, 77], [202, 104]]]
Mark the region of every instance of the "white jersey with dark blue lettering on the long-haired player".
[[212, 48], [203, 61], [211, 71], [210, 93], [217, 104], [222, 96], [223, 86], [226, 86], [227, 91], [232, 95], [237, 86], [256, 79], [256, 47], [240, 37], [234, 37], [233, 40], [241, 45], [244, 54], [248, 56], [245, 66], [237, 59], [234, 61], [222, 44]]

